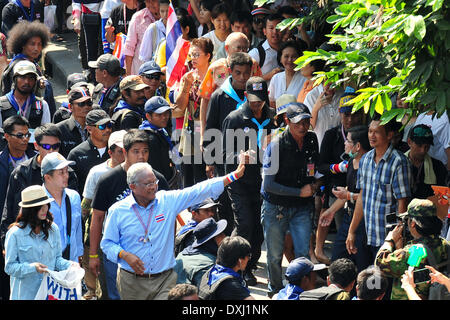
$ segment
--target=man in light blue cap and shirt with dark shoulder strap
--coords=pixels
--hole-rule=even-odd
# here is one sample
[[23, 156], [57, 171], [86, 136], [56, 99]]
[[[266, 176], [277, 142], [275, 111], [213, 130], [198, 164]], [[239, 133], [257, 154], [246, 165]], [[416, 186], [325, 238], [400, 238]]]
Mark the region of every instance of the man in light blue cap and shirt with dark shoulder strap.
[[42, 160], [41, 174], [47, 195], [55, 199], [51, 202], [50, 212], [61, 235], [63, 258], [79, 262], [79, 258], [83, 256], [81, 199], [78, 192], [67, 188], [69, 165], [73, 163], [58, 152], [47, 154]]

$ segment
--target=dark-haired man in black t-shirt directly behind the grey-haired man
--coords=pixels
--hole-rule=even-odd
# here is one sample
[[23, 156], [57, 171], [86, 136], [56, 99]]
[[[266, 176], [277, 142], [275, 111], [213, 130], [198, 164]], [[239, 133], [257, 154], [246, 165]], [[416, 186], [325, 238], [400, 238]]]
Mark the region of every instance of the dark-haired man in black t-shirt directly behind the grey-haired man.
[[[127, 197], [131, 190], [127, 183], [128, 168], [138, 162], [147, 162], [149, 156], [149, 138], [148, 135], [138, 129], [129, 130], [123, 137], [123, 148], [125, 162], [118, 165], [111, 171], [101, 176], [95, 189], [92, 200], [92, 220], [90, 228], [90, 249], [89, 249], [89, 269], [94, 275], [100, 272], [101, 261], [98, 257], [100, 251], [100, 240], [102, 237], [102, 226], [108, 209], [117, 201]], [[156, 178], [159, 180], [158, 188], [160, 190], [169, 190], [169, 185], [164, 176], [153, 170]], [[105, 264], [107, 294], [110, 299], [120, 299], [116, 288], [117, 266], [107, 268], [113, 265], [111, 261], [103, 258]], [[106, 292], [102, 290], [102, 295]]]

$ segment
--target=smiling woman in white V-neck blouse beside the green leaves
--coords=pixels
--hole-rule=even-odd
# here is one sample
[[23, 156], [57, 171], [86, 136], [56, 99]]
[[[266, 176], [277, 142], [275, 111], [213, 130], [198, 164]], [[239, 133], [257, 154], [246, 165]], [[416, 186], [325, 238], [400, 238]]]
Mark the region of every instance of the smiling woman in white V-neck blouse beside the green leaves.
[[269, 84], [270, 106], [275, 108], [275, 101], [283, 94], [297, 96], [303, 87], [306, 78], [300, 71], [295, 71], [294, 62], [303, 54], [301, 45], [296, 41], [288, 41], [278, 50], [278, 64], [284, 71], [275, 74]]

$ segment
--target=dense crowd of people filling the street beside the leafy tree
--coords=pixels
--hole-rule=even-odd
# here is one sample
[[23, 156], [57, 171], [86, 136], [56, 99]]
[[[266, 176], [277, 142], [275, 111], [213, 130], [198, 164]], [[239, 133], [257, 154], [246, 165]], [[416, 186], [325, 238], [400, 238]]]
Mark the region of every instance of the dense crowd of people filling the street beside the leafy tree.
[[[448, 114], [384, 123], [353, 110], [354, 84], [315, 81], [325, 61], [297, 70], [303, 51], [333, 50], [323, 29], [277, 28], [310, 5], [74, 0], [81, 66], [57, 107], [41, 57], [63, 18], [49, 30], [40, 1], [7, 4], [2, 299], [70, 266], [86, 300], [254, 299], [264, 242], [274, 300], [448, 293], [448, 191], [433, 190], [449, 186]], [[189, 53], [169, 86], [171, 8]], [[428, 252], [415, 269], [414, 246]]]

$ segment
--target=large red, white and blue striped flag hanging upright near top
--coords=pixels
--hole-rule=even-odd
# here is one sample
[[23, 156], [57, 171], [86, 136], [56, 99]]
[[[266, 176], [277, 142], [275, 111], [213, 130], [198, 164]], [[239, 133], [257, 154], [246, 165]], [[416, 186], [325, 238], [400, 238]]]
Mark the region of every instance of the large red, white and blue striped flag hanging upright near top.
[[182, 38], [181, 26], [170, 2], [166, 25], [166, 83], [172, 87], [182, 76], [181, 72], [189, 53], [189, 41]]

